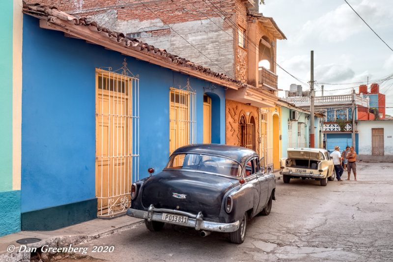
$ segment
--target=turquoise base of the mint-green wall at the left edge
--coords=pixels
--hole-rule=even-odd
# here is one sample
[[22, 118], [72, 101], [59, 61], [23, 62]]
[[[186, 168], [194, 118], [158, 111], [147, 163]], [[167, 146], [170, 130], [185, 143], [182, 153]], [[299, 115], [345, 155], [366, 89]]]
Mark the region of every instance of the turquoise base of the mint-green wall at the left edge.
[[21, 231], [21, 191], [0, 192], [0, 236]]

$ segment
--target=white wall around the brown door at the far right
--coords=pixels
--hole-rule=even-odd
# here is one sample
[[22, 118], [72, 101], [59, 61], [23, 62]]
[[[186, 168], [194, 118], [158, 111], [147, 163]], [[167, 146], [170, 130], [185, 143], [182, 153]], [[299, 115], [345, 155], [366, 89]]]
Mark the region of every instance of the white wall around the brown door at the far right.
[[362, 155], [372, 154], [371, 128], [384, 129], [385, 155], [393, 155], [393, 120], [358, 121], [359, 141], [360, 141], [359, 154]]

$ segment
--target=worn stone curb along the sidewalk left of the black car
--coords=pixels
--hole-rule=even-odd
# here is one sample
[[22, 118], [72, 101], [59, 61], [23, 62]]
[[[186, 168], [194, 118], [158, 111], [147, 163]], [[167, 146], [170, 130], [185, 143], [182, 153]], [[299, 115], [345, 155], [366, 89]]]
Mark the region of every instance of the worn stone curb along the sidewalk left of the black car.
[[[128, 225], [120, 226], [114, 229], [104, 229], [101, 232], [96, 232], [91, 235], [81, 234], [81, 235], [61, 235], [61, 236], [49, 236], [48, 239], [43, 239], [40, 242], [28, 244], [28, 248], [41, 248], [44, 245], [49, 245], [53, 247], [66, 247], [69, 245], [77, 245], [85, 242], [89, 242], [91, 240], [111, 235], [113, 233], [118, 233], [124, 230], [133, 229], [140, 224], [143, 224], [144, 220], [139, 220], [136, 222], [132, 222]], [[14, 243], [10, 243], [14, 244]], [[10, 253], [3, 253], [0, 254], [0, 261], [1, 262], [29, 262], [30, 261], [30, 252], [18, 252], [13, 251]]]

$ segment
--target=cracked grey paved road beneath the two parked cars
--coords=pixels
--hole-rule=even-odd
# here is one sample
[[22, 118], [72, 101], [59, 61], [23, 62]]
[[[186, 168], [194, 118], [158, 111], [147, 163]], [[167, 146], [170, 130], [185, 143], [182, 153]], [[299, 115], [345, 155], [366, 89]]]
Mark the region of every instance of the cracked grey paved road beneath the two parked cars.
[[[343, 178], [346, 178], [346, 172]], [[353, 177], [352, 177], [353, 179]], [[393, 261], [393, 163], [358, 164], [358, 181], [277, 181], [269, 216], [250, 221], [246, 241], [201, 238], [194, 230], [144, 225], [81, 246], [114, 245], [89, 253], [108, 261]]]

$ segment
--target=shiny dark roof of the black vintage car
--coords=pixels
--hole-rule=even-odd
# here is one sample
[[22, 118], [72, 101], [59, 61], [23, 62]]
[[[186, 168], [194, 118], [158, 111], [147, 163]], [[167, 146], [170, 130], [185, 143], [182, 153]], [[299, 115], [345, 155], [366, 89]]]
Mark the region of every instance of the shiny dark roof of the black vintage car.
[[196, 153], [227, 157], [243, 164], [250, 156], [257, 155], [255, 151], [241, 146], [220, 144], [193, 144], [177, 148], [173, 154]]

